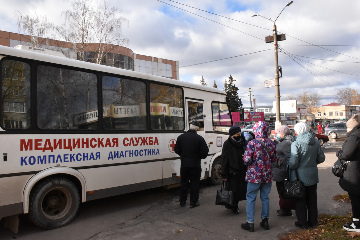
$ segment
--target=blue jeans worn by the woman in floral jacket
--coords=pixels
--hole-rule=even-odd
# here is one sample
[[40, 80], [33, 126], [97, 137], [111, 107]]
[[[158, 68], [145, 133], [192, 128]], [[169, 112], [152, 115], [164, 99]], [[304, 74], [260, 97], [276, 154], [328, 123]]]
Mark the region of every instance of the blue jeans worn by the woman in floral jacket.
[[256, 195], [260, 189], [260, 199], [262, 203], [261, 208], [261, 219], [269, 218], [270, 212], [270, 199], [269, 193], [271, 190], [271, 182], [264, 184], [254, 184], [252, 182], [248, 182], [248, 189], [246, 192], [246, 214], [247, 214], [247, 222], [254, 223], [255, 221], [255, 201]]

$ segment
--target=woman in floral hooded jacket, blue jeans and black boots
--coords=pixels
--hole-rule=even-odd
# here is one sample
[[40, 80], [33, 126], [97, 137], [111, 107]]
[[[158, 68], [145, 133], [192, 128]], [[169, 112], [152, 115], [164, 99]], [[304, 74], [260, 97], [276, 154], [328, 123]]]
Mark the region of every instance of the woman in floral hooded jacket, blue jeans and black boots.
[[261, 223], [260, 226], [269, 230], [269, 212], [271, 182], [273, 172], [271, 163], [276, 162], [276, 146], [268, 136], [269, 124], [265, 121], [257, 122], [253, 127], [255, 139], [251, 140], [244, 153], [244, 163], [248, 166], [245, 180], [248, 182], [246, 192], [246, 223], [241, 224], [241, 228], [250, 232], [255, 231], [255, 201], [256, 195], [260, 190]]

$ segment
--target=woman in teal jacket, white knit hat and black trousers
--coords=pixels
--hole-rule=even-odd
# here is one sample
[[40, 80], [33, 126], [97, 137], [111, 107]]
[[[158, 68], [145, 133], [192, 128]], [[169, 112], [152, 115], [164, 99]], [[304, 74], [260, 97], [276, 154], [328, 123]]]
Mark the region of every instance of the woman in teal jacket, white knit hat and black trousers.
[[[291, 144], [289, 169], [297, 169], [297, 178], [304, 184], [306, 191], [305, 198], [295, 201], [295, 226], [306, 229], [318, 224], [317, 165], [325, 161], [325, 154], [309, 125], [299, 122], [295, 124], [294, 130], [296, 139]], [[294, 180], [293, 175], [291, 181]]]

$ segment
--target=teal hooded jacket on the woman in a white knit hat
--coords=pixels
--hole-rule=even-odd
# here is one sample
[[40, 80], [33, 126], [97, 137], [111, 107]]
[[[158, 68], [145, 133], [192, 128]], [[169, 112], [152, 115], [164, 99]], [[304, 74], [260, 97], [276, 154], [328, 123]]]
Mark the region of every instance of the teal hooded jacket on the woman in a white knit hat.
[[324, 161], [324, 151], [311, 131], [305, 131], [296, 136], [296, 140], [291, 144], [289, 168], [297, 169], [298, 180], [305, 186], [317, 184], [319, 173], [316, 165]]

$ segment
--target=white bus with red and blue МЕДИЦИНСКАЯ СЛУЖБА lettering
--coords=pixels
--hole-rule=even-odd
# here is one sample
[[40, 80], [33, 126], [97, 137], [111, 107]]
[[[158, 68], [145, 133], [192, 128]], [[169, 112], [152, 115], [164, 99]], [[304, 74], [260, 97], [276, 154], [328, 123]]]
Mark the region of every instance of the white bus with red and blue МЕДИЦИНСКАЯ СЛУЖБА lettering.
[[45, 49], [0, 46], [0, 65], [0, 219], [12, 229], [18, 214], [52, 229], [80, 201], [179, 185], [174, 145], [194, 119], [210, 148], [201, 177], [221, 181], [224, 91]]

